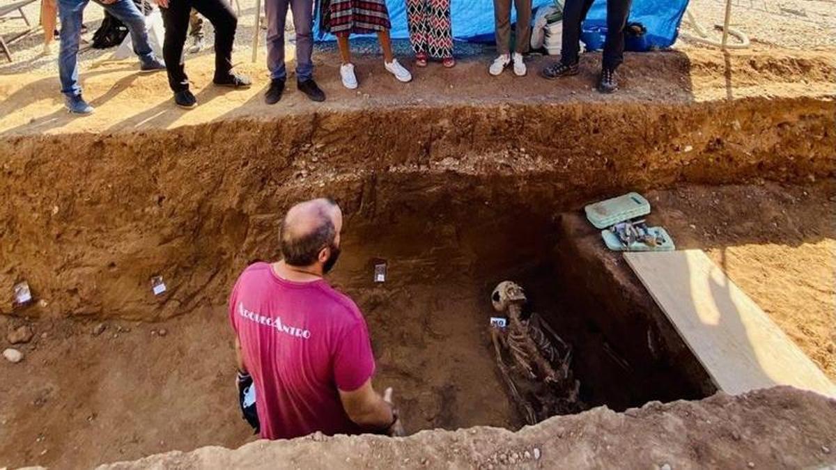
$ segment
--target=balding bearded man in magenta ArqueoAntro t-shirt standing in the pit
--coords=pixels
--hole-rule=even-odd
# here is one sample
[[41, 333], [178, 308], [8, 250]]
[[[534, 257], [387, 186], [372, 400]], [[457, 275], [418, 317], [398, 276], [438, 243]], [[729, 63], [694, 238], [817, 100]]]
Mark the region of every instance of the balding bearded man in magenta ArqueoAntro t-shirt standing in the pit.
[[339, 257], [343, 215], [328, 199], [291, 207], [283, 259], [255, 263], [229, 299], [239, 377], [255, 386], [261, 437], [400, 433], [391, 389], [380, 396], [369, 331], [357, 305], [323, 276]]

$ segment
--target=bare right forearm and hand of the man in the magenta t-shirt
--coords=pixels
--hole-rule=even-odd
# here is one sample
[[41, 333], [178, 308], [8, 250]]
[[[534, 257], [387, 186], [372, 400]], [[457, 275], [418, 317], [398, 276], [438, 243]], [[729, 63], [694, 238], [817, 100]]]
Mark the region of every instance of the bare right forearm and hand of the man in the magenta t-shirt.
[[391, 387], [386, 389], [384, 396], [380, 396], [369, 379], [357, 390], [340, 390], [339, 400], [349, 419], [360, 427], [386, 432], [390, 436], [403, 436], [400, 416], [392, 404]]

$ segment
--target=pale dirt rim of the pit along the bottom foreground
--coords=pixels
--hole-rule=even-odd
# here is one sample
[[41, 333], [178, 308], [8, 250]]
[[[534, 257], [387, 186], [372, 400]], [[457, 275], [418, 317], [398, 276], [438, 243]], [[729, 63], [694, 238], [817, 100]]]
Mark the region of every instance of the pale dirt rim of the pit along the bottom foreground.
[[258, 441], [168, 452], [100, 468], [460, 467], [808, 468], [836, 463], [836, 401], [787, 387], [702, 401], [596, 408], [520, 432], [476, 427], [412, 437]]

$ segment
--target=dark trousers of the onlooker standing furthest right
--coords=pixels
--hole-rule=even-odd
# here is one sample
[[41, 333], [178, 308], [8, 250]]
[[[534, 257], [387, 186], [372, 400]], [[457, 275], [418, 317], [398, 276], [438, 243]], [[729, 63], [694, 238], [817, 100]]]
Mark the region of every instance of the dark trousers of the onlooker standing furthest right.
[[[563, 7], [563, 46], [560, 61], [577, 64], [581, 23], [594, 0], [566, 0]], [[631, 0], [607, 0], [607, 38], [604, 41], [604, 69], [614, 70], [624, 62], [624, 26], [630, 14]], [[167, 59], [166, 59], [167, 60]]]

